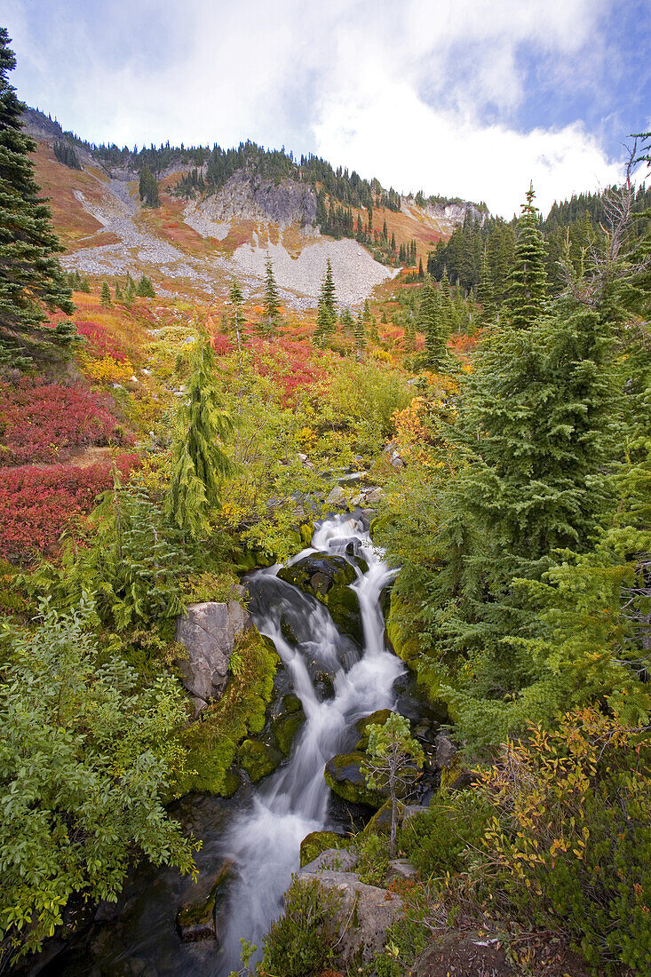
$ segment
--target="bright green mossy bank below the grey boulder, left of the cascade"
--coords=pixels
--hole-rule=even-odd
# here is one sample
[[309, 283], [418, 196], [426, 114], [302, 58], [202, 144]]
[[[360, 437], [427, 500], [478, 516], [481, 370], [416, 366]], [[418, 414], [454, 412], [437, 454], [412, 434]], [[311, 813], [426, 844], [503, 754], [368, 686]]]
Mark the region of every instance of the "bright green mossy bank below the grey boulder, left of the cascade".
[[197, 791], [229, 797], [237, 789], [239, 779], [229, 768], [236, 759], [239, 743], [264, 727], [278, 662], [269, 638], [255, 628], [242, 636], [231, 656], [224, 695], [181, 732], [187, 759], [172, 785], [174, 796]]

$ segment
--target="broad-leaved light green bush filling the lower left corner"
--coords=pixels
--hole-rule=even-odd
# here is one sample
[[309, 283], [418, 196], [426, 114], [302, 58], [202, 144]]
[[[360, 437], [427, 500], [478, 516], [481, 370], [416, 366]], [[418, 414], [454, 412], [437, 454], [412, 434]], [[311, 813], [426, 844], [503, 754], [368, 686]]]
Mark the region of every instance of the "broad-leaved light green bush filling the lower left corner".
[[101, 664], [82, 596], [32, 630], [5, 625], [0, 671], [0, 962], [40, 948], [68, 900], [115, 901], [134, 855], [195, 871], [193, 842], [161, 804], [182, 753], [174, 681], [138, 690], [119, 658]]

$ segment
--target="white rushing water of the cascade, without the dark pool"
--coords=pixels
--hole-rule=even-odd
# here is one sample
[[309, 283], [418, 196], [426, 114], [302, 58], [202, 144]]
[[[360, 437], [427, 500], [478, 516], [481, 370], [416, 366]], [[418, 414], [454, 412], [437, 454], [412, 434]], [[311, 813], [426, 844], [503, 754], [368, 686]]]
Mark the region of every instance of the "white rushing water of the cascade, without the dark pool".
[[[235, 861], [237, 880], [228, 898], [229, 923], [223, 938], [220, 973], [238, 966], [239, 940], [260, 946], [270, 922], [281, 912], [282, 894], [299, 867], [299, 848], [310, 831], [328, 827], [329, 788], [325, 784], [327, 760], [341, 752], [351, 728], [375, 709], [395, 705], [392, 688], [404, 668], [384, 644], [384, 620], [380, 594], [392, 579], [382, 554], [372, 546], [369, 534], [356, 520], [337, 516], [325, 521], [315, 533], [312, 546], [290, 562], [314, 553], [345, 555], [351, 537], [360, 541], [359, 555], [369, 565], [358, 571], [352, 584], [357, 591], [364, 624], [362, 656], [351, 655], [331, 617], [318, 602], [304, 601], [308, 637], [297, 647], [282, 636], [280, 617], [283, 603], [296, 606], [295, 587], [276, 579], [278, 599], [271, 602], [264, 617], [256, 618], [259, 630], [270, 637], [292, 679], [293, 689], [306, 715], [299, 739], [289, 761], [257, 794], [253, 810], [230, 828], [226, 847]], [[275, 576], [274, 567], [261, 574]], [[320, 701], [308, 665], [315, 660], [334, 672], [334, 698]]]

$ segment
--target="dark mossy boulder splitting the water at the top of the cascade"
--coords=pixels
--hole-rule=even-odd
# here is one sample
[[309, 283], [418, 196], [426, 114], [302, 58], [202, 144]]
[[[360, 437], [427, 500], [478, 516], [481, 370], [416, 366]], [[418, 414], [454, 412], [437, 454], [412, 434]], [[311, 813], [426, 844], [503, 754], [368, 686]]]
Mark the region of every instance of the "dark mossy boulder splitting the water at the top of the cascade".
[[304, 557], [291, 567], [283, 567], [278, 575], [286, 583], [291, 583], [320, 600], [330, 612], [339, 631], [358, 644], [363, 643], [360, 602], [350, 587], [357, 579], [357, 573], [345, 557], [316, 553]]

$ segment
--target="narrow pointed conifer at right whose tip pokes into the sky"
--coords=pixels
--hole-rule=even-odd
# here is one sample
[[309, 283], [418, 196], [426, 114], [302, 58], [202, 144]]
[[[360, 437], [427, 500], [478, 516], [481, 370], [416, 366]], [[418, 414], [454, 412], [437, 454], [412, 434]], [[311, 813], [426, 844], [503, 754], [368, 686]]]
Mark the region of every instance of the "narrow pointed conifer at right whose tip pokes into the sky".
[[517, 224], [515, 261], [508, 283], [506, 315], [515, 329], [528, 328], [544, 311], [545, 255], [539, 211], [534, 206], [535, 195], [532, 185]]

